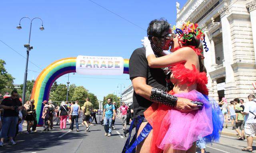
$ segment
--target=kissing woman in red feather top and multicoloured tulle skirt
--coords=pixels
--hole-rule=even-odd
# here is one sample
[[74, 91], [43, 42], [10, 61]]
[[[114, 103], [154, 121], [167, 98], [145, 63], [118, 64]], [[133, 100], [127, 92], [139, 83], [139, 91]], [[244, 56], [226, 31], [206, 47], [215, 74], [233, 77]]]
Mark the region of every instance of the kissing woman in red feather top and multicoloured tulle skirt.
[[173, 37], [173, 53], [158, 58], [145, 37], [143, 44], [148, 64], [152, 68], [170, 67], [174, 83], [170, 94], [203, 102], [204, 106], [187, 113], [170, 106], [152, 104], [144, 112], [153, 127], [151, 153], [194, 153], [195, 141], [202, 137], [206, 142], [218, 141], [222, 130], [222, 112], [216, 102], [208, 99], [206, 69], [201, 61], [204, 57], [202, 49], [198, 48], [200, 40], [204, 40], [204, 33], [197, 24], [189, 22], [176, 31], [175, 37], [168, 36]]

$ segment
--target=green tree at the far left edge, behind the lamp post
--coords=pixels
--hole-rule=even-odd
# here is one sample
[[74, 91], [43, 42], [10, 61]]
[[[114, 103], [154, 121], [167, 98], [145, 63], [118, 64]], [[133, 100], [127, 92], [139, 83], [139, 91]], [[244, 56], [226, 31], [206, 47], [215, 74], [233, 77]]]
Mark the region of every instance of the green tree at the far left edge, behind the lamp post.
[[13, 80], [15, 79], [6, 71], [4, 65], [6, 65], [5, 61], [0, 59], [0, 93], [2, 94], [14, 89]]

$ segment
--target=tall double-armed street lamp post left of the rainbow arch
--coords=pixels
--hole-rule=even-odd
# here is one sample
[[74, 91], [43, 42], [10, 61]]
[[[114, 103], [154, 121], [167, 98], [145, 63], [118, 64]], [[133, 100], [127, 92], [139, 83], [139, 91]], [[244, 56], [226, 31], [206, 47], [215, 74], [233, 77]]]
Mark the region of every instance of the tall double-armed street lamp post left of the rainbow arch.
[[[28, 18], [28, 17], [23, 17], [20, 19], [20, 22], [22, 19], [24, 18]], [[32, 20], [30, 18], [28, 18], [30, 20], [30, 31], [29, 31], [29, 39], [28, 39], [28, 44], [25, 44], [24, 47], [27, 48], [27, 58], [26, 58], [26, 68], [25, 68], [25, 73], [24, 73], [24, 82], [23, 82], [23, 91], [22, 91], [22, 104], [25, 104], [25, 98], [26, 98], [26, 85], [27, 85], [27, 76], [28, 76], [28, 56], [29, 56], [29, 51], [31, 49], [33, 49], [32, 46], [30, 46], [30, 35], [31, 35], [31, 27], [32, 27], [32, 21], [34, 19], [40, 19], [42, 21], [42, 26], [39, 28], [41, 31], [44, 30], [43, 27], [43, 20], [41, 18], [33, 18]], [[22, 27], [20, 26], [20, 22], [19, 25], [16, 27], [17, 29], [21, 29]]]

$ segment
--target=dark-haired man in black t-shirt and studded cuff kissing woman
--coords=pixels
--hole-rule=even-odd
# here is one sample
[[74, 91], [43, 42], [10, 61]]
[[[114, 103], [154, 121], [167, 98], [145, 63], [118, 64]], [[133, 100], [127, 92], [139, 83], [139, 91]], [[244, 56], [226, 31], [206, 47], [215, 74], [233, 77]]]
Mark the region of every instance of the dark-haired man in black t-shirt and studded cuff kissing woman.
[[[173, 44], [173, 40], [169, 39], [170, 35], [172, 35], [172, 29], [166, 20], [152, 20], [148, 26], [147, 34], [156, 57], [160, 57], [164, 53], [168, 53], [166, 50], [169, 50], [170, 46]], [[163, 50], [165, 51], [163, 52]], [[142, 121], [140, 128], [136, 129], [136, 133], [138, 133], [137, 136], [139, 136], [142, 129], [148, 125], [148, 122], [144, 118], [144, 111], [152, 104], [152, 102], [157, 104], [161, 103], [154, 99], [156, 95], [153, 94], [159, 92], [161, 94], [161, 98], [162, 96], [164, 97], [161, 99], [163, 103], [182, 112], [190, 112], [198, 109], [196, 108], [197, 105], [193, 104], [191, 100], [186, 98], [177, 98], [164, 92], [171, 90], [171, 82], [169, 81], [170, 71], [168, 68], [154, 69], [148, 67], [144, 47], [138, 48], [132, 53], [129, 61], [129, 74], [134, 88], [134, 123], [138, 123], [138, 120]], [[142, 142], [139, 142], [139, 145], [136, 148], [137, 153], [150, 152], [152, 130]], [[125, 147], [124, 150], [126, 150]]]

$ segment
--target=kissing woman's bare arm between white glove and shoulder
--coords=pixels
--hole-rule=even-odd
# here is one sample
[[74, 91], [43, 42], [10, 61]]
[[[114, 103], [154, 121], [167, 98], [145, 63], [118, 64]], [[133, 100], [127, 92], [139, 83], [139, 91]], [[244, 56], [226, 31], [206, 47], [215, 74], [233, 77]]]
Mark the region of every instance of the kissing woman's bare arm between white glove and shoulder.
[[188, 58], [195, 56], [196, 53], [190, 47], [183, 47], [172, 54], [156, 58], [154, 54], [147, 57], [148, 66], [151, 68], [169, 67], [177, 63], [186, 62]]

